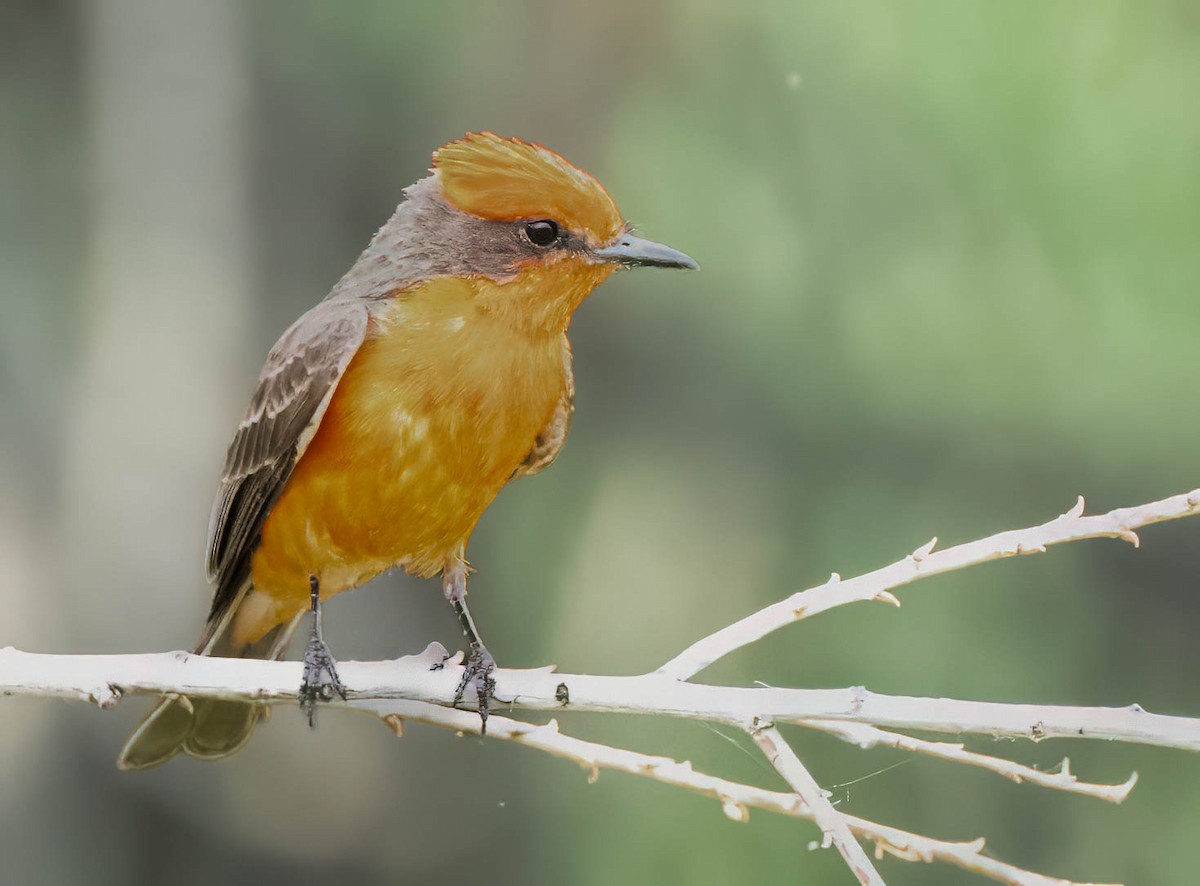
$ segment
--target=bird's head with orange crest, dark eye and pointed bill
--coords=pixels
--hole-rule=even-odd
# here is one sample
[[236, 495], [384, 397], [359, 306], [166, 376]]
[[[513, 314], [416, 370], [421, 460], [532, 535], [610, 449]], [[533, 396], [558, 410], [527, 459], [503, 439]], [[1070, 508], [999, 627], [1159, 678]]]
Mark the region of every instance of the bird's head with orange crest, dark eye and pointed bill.
[[468, 133], [434, 151], [431, 173], [404, 191], [362, 271], [390, 265], [412, 283], [467, 277], [482, 306], [563, 329], [618, 268], [696, 268], [635, 235], [599, 181], [541, 145]]

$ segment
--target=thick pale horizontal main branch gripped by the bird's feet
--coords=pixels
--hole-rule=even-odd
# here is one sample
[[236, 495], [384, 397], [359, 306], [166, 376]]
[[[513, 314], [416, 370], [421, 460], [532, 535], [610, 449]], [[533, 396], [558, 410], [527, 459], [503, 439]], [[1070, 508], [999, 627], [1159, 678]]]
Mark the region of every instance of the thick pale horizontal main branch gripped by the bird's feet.
[[[349, 704], [413, 699], [450, 705], [462, 675], [445, 649], [391, 661], [340, 661]], [[112, 707], [122, 694], [181, 693], [194, 698], [294, 702], [299, 661], [209, 658], [186, 652], [140, 655], [52, 655], [0, 649], [0, 694], [73, 699]], [[1099, 738], [1200, 750], [1200, 719], [1128, 707], [1004, 705], [958, 699], [882, 695], [847, 689], [746, 688], [680, 683], [659, 674], [601, 677], [551, 668], [496, 671], [497, 699], [509, 710], [592, 711], [683, 717], [742, 728], [755, 717], [806, 725], [810, 720], [865, 723], [930, 732], [1013, 738]], [[566, 701], [564, 702], [564, 698]], [[340, 705], [343, 702], [332, 702]]]

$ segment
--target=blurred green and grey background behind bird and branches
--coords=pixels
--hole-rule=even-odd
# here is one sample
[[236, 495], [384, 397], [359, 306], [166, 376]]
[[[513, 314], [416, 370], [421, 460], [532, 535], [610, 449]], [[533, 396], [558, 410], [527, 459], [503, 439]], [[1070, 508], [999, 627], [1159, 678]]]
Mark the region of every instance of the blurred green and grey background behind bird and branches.
[[[578, 412], [472, 544], [510, 666], [632, 674], [833, 570], [1198, 485], [1200, 7], [1178, 2], [7, 2], [0, 645], [180, 648], [223, 448], [276, 335], [466, 130], [602, 180], [696, 274], [607, 283]], [[1200, 525], [955, 573], [704, 675], [1200, 714]], [[458, 641], [434, 582], [342, 658]], [[121, 774], [144, 704], [5, 700], [6, 882], [846, 882], [816, 831], [517, 747], [281, 710]], [[778, 786], [702, 725], [564, 729]], [[840, 808], [1050, 874], [1195, 882], [1200, 758], [996, 744], [1123, 807], [794, 732]], [[745, 742], [742, 742], [745, 744]], [[974, 882], [883, 862], [894, 884]]]

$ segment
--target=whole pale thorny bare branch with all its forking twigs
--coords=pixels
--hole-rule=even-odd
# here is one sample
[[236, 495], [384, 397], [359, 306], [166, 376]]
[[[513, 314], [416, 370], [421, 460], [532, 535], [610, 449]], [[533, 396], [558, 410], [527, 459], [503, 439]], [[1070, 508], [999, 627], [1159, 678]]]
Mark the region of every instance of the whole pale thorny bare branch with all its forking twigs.
[[[704, 686], [689, 682], [716, 659], [778, 628], [834, 606], [860, 600], [899, 605], [892, 589], [926, 575], [984, 563], [998, 557], [1044, 551], [1046, 546], [1084, 538], [1122, 538], [1138, 544], [1135, 529], [1162, 520], [1200, 513], [1200, 490], [1160, 502], [1084, 516], [1084, 501], [1048, 523], [1004, 532], [944, 551], [936, 539], [905, 559], [856, 579], [828, 582], [768, 606], [704, 637], [653, 674], [631, 677], [556, 674], [553, 668], [498, 670], [496, 696], [510, 711], [592, 711], [666, 716], [726, 723], [748, 730], [792, 794], [766, 791], [696, 772], [688, 762], [649, 756], [570, 738], [556, 722], [521, 723], [493, 714], [488, 736], [539, 748], [576, 760], [593, 777], [613, 768], [686, 788], [721, 802], [725, 814], [743, 821], [757, 807], [815, 821], [864, 884], [882, 884], [856, 839], [875, 843], [876, 858], [893, 855], [908, 861], [943, 861], [1006, 884], [1067, 884], [1066, 880], [1021, 870], [983, 854], [983, 839], [970, 843], [935, 840], [859, 819], [835, 809], [808, 768], [775, 728], [792, 723], [835, 735], [859, 747], [884, 746], [925, 754], [949, 762], [986, 768], [1014, 782], [1032, 782], [1054, 790], [1118, 803], [1133, 789], [1136, 774], [1120, 785], [1080, 782], [1064, 759], [1057, 772], [1039, 770], [960, 743], [914, 738], [904, 732], [929, 731], [1044, 738], [1100, 738], [1200, 750], [1200, 719], [1152, 714], [1139, 705], [1069, 707], [1007, 705], [892, 696], [863, 687], [790, 689]], [[478, 714], [451, 710], [462, 675], [460, 659], [446, 659], [432, 643], [419, 655], [394, 661], [342, 661], [349, 707], [376, 714], [397, 735], [404, 719], [419, 719], [460, 732], [478, 732]], [[294, 704], [299, 698], [301, 664], [192, 655], [184, 652], [144, 655], [46, 655], [0, 649], [0, 694], [60, 698], [115, 706], [122, 695], [184, 694], [194, 698], [240, 699], [264, 704]], [[900, 732], [893, 730], [902, 730]]]

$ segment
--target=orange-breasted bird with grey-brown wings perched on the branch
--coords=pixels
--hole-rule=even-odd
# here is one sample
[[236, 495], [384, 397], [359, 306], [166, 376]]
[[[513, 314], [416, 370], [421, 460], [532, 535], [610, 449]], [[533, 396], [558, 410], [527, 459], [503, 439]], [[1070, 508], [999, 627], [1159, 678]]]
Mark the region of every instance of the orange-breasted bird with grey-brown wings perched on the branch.
[[[496, 661], [467, 606], [468, 538], [510, 481], [558, 456], [575, 411], [568, 329], [616, 270], [695, 269], [634, 233], [605, 187], [554, 151], [468, 132], [324, 300], [270, 349], [209, 522], [203, 655], [281, 658], [306, 613], [300, 701], [344, 696], [323, 604], [400, 568], [442, 576], [486, 732]], [[167, 695], [118, 758], [221, 760], [260, 704]]]

